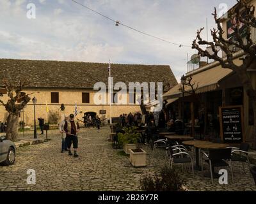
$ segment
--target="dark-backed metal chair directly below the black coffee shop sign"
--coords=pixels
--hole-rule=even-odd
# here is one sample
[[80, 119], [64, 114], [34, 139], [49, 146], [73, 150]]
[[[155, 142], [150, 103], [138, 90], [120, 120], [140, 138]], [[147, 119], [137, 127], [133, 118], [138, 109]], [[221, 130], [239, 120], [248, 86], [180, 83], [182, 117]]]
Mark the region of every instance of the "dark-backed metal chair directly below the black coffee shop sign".
[[[250, 159], [249, 159], [249, 150], [250, 148], [250, 145], [248, 143], [241, 143], [240, 144], [240, 147], [237, 148], [237, 147], [227, 147], [227, 149], [232, 149], [232, 161], [237, 161], [237, 162], [241, 162], [242, 165], [243, 165], [243, 171], [245, 172], [244, 170], [244, 163], [247, 163], [248, 164], [248, 168], [250, 169]], [[233, 150], [234, 149], [234, 150]], [[239, 153], [239, 154], [234, 154], [234, 153]]]

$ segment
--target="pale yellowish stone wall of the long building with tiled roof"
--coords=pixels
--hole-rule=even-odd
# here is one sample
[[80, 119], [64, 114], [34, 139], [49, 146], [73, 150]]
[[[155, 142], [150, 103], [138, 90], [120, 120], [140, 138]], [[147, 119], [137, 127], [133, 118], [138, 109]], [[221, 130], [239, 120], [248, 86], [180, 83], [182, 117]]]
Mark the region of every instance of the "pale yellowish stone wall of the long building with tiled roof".
[[[38, 117], [42, 117], [47, 120], [47, 108], [46, 103], [49, 108], [49, 111], [57, 112], [60, 117], [63, 117], [64, 114], [69, 115], [74, 113], [75, 103], [77, 103], [78, 115], [77, 119], [82, 119], [84, 112], [95, 112], [102, 119], [110, 117], [110, 107], [109, 105], [95, 105], [93, 103], [94, 91], [88, 89], [81, 90], [72, 90], [72, 89], [27, 89], [24, 92], [31, 94], [31, 101], [28, 106], [24, 108], [24, 122], [28, 126], [33, 126], [34, 123], [34, 107], [32, 103], [32, 98], [35, 96], [37, 99], [36, 103], [36, 123], [38, 124]], [[59, 92], [59, 103], [51, 103], [51, 92]], [[82, 103], [82, 92], [90, 92], [90, 104]], [[8, 97], [4, 94], [1, 99], [6, 102]], [[129, 96], [127, 94], [127, 101], [129, 101]], [[65, 105], [65, 112], [61, 112], [60, 106], [61, 103]], [[140, 112], [140, 105], [112, 105], [112, 117], [119, 117], [122, 113], [129, 112]], [[100, 110], [106, 110], [106, 115], [100, 115]], [[8, 114], [4, 109], [3, 105], [0, 105], [0, 121], [5, 122]], [[20, 120], [23, 119], [23, 113], [20, 113]], [[60, 118], [61, 120], [61, 118]]]

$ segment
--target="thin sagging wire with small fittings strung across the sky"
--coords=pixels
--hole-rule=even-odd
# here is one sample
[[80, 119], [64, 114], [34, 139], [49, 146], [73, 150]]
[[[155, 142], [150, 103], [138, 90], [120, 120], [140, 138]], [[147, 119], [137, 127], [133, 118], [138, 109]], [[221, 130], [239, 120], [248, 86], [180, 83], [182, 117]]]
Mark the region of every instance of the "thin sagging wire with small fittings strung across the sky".
[[159, 37], [157, 37], [157, 36], [153, 36], [152, 34], [148, 34], [148, 33], [145, 33], [145, 32], [143, 32], [143, 31], [140, 31], [140, 30], [138, 30], [138, 29], [135, 29], [135, 28], [133, 28], [133, 27], [131, 27], [131, 26], [129, 26], [129, 25], [125, 25], [125, 24], [122, 24], [120, 21], [118, 21], [118, 20], [114, 20], [113, 18], [110, 18], [110, 17], [107, 17], [106, 15], [104, 15], [104, 14], [102, 14], [102, 13], [99, 13], [98, 11], [95, 11], [95, 10], [93, 10], [92, 8], [90, 8], [90, 7], [88, 7], [88, 6], [86, 6], [86, 5], [84, 5], [84, 4], [81, 4], [81, 3], [79, 3], [79, 2], [77, 2], [77, 1], [75, 1], [75, 0], [71, 0], [72, 2], [74, 2], [74, 3], [76, 3], [76, 4], [78, 4], [78, 5], [80, 5], [80, 6], [83, 6], [84, 8], [86, 8], [86, 9], [88, 9], [88, 10], [90, 10], [90, 11], [93, 11], [94, 13], [96, 13], [96, 14], [98, 14], [98, 15], [101, 15], [102, 17], [104, 17], [104, 18], [106, 18], [106, 19], [108, 19], [108, 20], [111, 20], [112, 22], [114, 22], [116, 25], [122, 25], [122, 26], [124, 26], [124, 27], [127, 27], [128, 29], [131, 29], [132, 31], [136, 31], [136, 32], [138, 32], [138, 33], [141, 33], [141, 34], [144, 34], [144, 35], [146, 35], [146, 36], [149, 36], [149, 37], [151, 37], [151, 38], [155, 38], [156, 40], [161, 40], [161, 41], [164, 41], [164, 42], [166, 42], [166, 43], [170, 43], [170, 44], [172, 44], [172, 45], [175, 45], [175, 46], [178, 46], [178, 47], [192, 47], [192, 46], [189, 46], [189, 45], [182, 45], [182, 44], [179, 44], [179, 43], [173, 43], [173, 42], [171, 42], [171, 41], [168, 41], [168, 40], [164, 40], [163, 38], [159, 38]]

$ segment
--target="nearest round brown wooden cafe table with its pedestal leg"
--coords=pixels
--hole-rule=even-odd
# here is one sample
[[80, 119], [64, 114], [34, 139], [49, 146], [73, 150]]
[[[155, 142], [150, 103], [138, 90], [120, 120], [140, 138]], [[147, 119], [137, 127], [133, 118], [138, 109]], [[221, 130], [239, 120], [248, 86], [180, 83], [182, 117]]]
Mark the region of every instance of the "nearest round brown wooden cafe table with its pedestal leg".
[[229, 144], [223, 143], [213, 143], [209, 141], [201, 141], [201, 140], [193, 140], [193, 141], [185, 141], [183, 142], [184, 145], [194, 146], [196, 148], [196, 170], [200, 170], [199, 165], [199, 149], [224, 149], [229, 147]]

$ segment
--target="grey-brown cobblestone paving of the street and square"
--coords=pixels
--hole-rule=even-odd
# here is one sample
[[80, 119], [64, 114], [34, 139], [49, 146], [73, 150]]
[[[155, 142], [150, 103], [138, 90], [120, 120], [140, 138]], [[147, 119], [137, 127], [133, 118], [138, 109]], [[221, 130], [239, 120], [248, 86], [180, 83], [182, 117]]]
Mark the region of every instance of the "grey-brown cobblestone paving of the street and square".
[[[29, 133], [30, 136], [32, 133]], [[58, 131], [49, 132], [49, 142], [17, 149], [13, 166], [0, 166], [0, 191], [140, 191], [140, 179], [145, 173], [159, 171], [164, 165], [165, 152], [157, 149], [152, 158], [148, 146], [147, 168], [133, 168], [129, 157], [120, 154], [108, 142], [109, 128], [82, 129], [79, 137], [78, 158], [60, 153], [61, 137]], [[29, 136], [26, 134], [26, 136]], [[36, 185], [28, 185], [28, 169], [36, 171]], [[241, 173], [241, 166], [234, 165], [234, 183], [220, 186], [218, 180], [205, 179], [202, 172], [188, 178], [186, 187], [191, 191], [256, 191], [248, 168]]]

